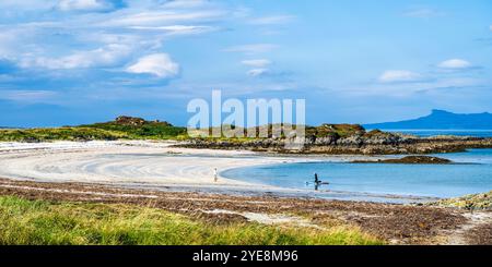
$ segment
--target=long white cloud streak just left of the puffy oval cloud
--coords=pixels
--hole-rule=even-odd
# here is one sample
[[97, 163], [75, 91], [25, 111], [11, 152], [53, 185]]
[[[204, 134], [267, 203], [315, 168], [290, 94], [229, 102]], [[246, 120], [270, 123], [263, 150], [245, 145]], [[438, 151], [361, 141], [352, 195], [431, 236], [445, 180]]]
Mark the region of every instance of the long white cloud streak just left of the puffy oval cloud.
[[44, 68], [50, 70], [69, 70], [113, 66], [131, 53], [131, 48], [125, 45], [110, 44], [105, 47], [77, 51], [62, 58], [30, 57], [21, 59], [21, 68]]

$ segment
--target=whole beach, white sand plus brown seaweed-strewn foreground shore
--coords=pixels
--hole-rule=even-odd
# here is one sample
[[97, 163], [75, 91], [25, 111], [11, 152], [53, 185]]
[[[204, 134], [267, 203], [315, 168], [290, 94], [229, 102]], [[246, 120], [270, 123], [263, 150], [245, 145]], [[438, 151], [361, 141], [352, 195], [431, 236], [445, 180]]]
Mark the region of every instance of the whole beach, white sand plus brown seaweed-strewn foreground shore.
[[[213, 182], [213, 168], [223, 171], [282, 162], [351, 161], [363, 159], [361, 156], [288, 157], [176, 148], [174, 144], [142, 141], [0, 143], [0, 195], [56, 202], [151, 205], [213, 223], [244, 220], [318, 227], [318, 217], [320, 221], [331, 218], [397, 244], [490, 243], [490, 213], [327, 199], [403, 199], [390, 195], [324, 194], [222, 177]], [[418, 201], [422, 199], [407, 199]], [[306, 220], [306, 214], [314, 217]], [[478, 231], [482, 228], [485, 230]]]

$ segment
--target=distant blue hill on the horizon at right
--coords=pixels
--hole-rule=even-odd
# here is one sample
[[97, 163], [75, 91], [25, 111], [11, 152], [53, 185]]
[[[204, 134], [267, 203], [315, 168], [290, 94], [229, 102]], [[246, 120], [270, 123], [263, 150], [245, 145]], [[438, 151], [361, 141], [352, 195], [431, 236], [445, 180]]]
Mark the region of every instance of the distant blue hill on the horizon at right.
[[365, 124], [365, 129], [398, 130], [490, 130], [492, 114], [488, 112], [457, 114], [445, 110], [432, 110], [432, 113], [413, 120]]

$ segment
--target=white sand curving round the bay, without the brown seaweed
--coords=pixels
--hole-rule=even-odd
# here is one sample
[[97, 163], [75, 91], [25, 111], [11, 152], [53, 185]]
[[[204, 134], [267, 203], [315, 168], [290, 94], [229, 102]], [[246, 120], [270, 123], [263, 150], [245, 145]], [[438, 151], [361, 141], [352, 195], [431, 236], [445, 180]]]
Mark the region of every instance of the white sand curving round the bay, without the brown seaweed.
[[[254, 184], [221, 175], [226, 170], [289, 162], [351, 162], [377, 156], [268, 155], [245, 150], [175, 147], [175, 142], [0, 143], [0, 177], [35, 182], [82, 182], [126, 189], [235, 195], [271, 194], [388, 203], [437, 201], [436, 197], [312, 191]], [[213, 182], [213, 168], [219, 181]]]

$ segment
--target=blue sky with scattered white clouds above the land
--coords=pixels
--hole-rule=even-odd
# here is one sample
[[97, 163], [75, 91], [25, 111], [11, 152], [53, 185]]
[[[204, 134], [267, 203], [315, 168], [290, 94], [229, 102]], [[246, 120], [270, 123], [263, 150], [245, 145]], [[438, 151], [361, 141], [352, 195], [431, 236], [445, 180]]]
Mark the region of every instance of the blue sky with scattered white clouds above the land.
[[309, 124], [492, 111], [492, 2], [2, 0], [0, 125], [304, 98]]

